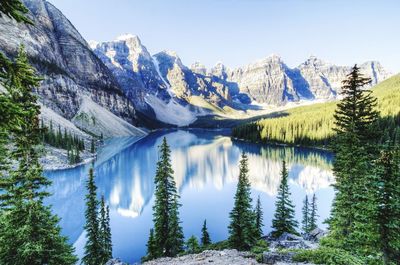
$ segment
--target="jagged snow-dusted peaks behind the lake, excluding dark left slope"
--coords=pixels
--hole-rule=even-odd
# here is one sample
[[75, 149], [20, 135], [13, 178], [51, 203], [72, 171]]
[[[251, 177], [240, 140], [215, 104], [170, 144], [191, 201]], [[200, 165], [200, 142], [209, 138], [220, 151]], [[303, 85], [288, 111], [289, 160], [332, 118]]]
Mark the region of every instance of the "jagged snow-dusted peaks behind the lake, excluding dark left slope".
[[[277, 55], [229, 69], [217, 63], [185, 66], [175, 52], [151, 55], [135, 35], [92, 45], [135, 107], [151, 118], [178, 126], [199, 116], [243, 117], [248, 110], [302, 100], [332, 100], [351, 66], [337, 66], [311, 56], [290, 68]], [[379, 62], [360, 65], [375, 85], [391, 74]]]

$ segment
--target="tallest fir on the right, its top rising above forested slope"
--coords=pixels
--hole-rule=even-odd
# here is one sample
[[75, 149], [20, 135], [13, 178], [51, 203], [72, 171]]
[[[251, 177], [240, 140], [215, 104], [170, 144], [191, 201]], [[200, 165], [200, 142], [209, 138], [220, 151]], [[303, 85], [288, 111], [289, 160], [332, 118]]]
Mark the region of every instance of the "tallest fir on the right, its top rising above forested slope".
[[355, 65], [343, 81], [343, 99], [334, 114], [336, 194], [328, 222], [333, 240], [327, 241], [362, 255], [371, 254], [377, 240], [371, 222], [374, 191], [370, 168], [379, 138], [379, 130], [374, 126], [379, 113], [375, 110], [376, 99], [364, 89], [370, 82]]

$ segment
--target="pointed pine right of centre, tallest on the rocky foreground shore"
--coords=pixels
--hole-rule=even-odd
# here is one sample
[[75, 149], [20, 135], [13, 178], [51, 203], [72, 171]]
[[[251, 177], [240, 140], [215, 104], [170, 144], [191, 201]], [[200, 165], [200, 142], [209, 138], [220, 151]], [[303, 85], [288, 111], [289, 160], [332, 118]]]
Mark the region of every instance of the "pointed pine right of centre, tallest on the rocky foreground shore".
[[254, 212], [251, 205], [251, 186], [248, 178], [248, 160], [242, 153], [235, 203], [230, 212], [229, 244], [237, 250], [249, 250], [256, 242]]

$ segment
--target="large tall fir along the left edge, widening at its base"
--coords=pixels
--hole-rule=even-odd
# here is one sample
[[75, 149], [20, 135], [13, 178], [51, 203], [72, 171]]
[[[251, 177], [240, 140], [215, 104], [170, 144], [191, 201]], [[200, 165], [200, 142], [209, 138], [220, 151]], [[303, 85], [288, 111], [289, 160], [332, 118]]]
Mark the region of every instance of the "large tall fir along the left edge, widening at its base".
[[5, 265], [74, 264], [77, 260], [67, 238], [61, 236], [58, 218], [43, 205], [50, 181], [39, 163], [40, 107], [32, 93], [39, 81], [21, 46], [5, 83], [9, 103], [19, 110], [7, 128], [15, 167], [3, 172], [0, 181], [0, 264]]

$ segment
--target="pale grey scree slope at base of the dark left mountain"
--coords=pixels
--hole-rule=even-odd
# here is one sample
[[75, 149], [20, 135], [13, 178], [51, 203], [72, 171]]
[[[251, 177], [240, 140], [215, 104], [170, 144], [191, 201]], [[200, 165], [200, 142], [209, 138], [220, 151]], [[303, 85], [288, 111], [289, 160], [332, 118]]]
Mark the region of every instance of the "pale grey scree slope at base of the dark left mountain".
[[146, 134], [143, 130], [102, 108], [87, 96], [82, 97], [81, 106], [72, 122], [79, 128], [97, 136], [103, 134], [106, 138]]

